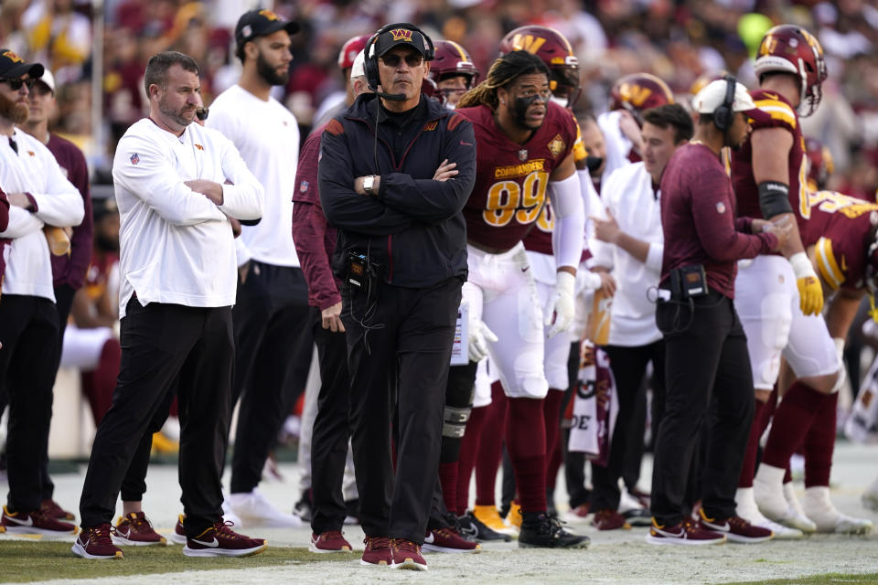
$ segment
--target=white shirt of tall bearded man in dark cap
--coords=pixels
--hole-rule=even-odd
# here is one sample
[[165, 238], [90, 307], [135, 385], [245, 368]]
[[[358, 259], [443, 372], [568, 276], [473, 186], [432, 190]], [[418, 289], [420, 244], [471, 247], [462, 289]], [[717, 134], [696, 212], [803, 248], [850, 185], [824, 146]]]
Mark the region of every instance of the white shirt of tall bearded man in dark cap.
[[207, 125], [235, 144], [265, 187], [265, 214], [259, 224], [242, 228], [238, 263], [252, 258], [275, 266], [299, 266], [293, 243], [293, 194], [300, 138], [293, 113], [274, 98], [263, 101], [233, 85], [210, 104]]

